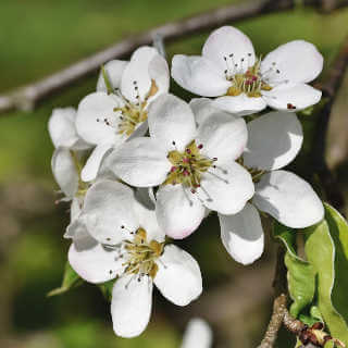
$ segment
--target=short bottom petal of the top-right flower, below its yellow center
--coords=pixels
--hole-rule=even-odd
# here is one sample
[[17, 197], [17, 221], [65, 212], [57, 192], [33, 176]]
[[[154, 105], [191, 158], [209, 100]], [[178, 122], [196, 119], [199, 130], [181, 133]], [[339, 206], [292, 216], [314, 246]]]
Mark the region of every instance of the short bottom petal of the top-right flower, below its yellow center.
[[236, 97], [225, 96], [214, 100], [214, 105], [221, 110], [233, 113], [235, 116], [245, 116], [259, 112], [266, 107], [263, 98], [248, 97], [241, 94]]

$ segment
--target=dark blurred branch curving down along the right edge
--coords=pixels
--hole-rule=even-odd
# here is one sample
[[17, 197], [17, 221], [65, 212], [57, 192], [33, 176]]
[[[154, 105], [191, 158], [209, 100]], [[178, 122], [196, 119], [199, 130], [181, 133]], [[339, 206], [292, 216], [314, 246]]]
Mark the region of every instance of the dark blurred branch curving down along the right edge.
[[338, 187], [336, 177], [330, 171], [325, 161], [326, 149], [326, 133], [330, 122], [332, 108], [337, 96], [337, 91], [343, 83], [345, 72], [348, 64], [348, 37], [344, 41], [335, 62], [330, 70], [327, 77], [323, 84], [315, 87], [323, 91], [323, 98], [326, 102], [320, 110], [314, 132], [313, 148], [312, 148], [312, 169], [313, 173], [319, 175], [320, 182], [325, 190], [326, 199], [338, 210], [344, 207], [344, 196]]

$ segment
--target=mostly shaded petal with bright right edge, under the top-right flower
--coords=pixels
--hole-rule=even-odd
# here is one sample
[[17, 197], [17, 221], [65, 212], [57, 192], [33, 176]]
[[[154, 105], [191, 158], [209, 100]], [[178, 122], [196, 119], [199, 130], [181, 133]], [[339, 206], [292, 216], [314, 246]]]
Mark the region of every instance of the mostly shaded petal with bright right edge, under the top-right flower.
[[248, 123], [248, 145], [244, 164], [260, 170], [277, 170], [290, 163], [303, 141], [296, 114], [270, 112]]

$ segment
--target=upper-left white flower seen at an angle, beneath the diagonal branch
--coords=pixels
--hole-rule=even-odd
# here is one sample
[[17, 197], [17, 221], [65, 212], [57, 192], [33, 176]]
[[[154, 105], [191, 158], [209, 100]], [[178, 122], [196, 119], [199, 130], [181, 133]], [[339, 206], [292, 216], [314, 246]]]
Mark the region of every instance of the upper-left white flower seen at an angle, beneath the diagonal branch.
[[96, 146], [82, 172], [83, 181], [90, 182], [97, 176], [110, 149], [129, 136], [147, 132], [148, 107], [169, 90], [169, 84], [166, 61], [151, 47], [137, 49], [129, 62], [105, 64], [97, 92], [85, 97], [77, 110], [77, 133]]

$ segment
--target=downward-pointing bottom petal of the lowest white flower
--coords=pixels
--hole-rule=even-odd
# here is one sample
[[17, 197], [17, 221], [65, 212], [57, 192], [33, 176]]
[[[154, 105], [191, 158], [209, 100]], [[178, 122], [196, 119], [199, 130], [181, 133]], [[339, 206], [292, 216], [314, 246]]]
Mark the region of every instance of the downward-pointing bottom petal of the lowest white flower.
[[147, 327], [152, 307], [152, 279], [122, 276], [112, 290], [111, 315], [113, 330], [121, 337], [135, 337]]

